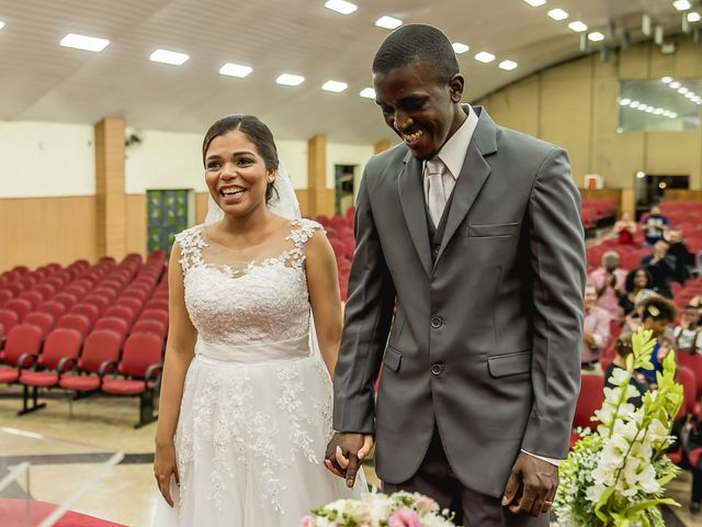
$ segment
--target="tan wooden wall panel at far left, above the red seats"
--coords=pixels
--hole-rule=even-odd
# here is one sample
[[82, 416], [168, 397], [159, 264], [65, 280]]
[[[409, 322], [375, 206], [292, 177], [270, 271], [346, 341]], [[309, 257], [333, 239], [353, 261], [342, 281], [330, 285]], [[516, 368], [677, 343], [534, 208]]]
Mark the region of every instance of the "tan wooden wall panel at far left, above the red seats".
[[0, 200], [0, 271], [63, 266], [79, 258], [94, 262], [95, 197]]

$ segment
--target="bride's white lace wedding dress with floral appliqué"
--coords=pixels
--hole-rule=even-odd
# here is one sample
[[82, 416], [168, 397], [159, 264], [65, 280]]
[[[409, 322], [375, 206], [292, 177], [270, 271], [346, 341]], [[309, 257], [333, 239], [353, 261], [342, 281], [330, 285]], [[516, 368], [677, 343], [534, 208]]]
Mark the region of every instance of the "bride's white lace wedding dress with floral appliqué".
[[310, 508], [366, 490], [324, 467], [332, 390], [310, 351], [305, 246], [320, 226], [291, 221], [231, 250], [203, 226], [177, 236], [197, 344], [176, 431], [180, 489], [155, 525], [295, 527]]

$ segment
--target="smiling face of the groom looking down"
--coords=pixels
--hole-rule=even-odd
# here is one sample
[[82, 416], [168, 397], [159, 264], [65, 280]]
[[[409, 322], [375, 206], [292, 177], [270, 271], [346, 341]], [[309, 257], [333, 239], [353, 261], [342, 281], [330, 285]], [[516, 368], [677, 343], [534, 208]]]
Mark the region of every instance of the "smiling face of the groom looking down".
[[375, 72], [373, 86], [385, 123], [418, 159], [437, 154], [465, 117], [460, 104], [463, 77], [442, 79], [423, 61]]

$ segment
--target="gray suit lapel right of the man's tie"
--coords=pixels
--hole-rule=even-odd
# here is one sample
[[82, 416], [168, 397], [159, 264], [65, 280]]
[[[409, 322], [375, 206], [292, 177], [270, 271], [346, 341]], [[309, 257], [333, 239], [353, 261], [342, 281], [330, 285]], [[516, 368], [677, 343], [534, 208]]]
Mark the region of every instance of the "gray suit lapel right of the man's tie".
[[456, 229], [465, 220], [483, 184], [485, 184], [485, 181], [490, 175], [490, 166], [485, 157], [497, 152], [497, 127], [495, 126], [495, 122], [492, 122], [483, 108], [476, 106], [475, 110], [479, 115], [478, 124], [468, 145], [468, 152], [465, 155], [461, 175], [453, 189], [453, 201], [449, 210], [446, 229], [443, 234], [441, 248], [439, 249], [439, 255], [435, 260], [437, 262], [441, 258], [441, 255], [443, 255]]

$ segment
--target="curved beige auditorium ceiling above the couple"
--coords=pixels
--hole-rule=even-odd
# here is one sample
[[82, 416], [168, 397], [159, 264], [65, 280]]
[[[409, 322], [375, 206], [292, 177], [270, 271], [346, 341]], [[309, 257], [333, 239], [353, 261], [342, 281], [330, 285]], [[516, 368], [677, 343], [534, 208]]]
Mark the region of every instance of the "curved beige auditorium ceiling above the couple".
[[[253, 113], [279, 138], [327, 134], [367, 144], [392, 136], [373, 100], [359, 96], [371, 86], [373, 55], [389, 33], [375, 25], [383, 15], [437, 25], [469, 46], [458, 55], [465, 101], [584, 53], [635, 43], [645, 37], [643, 13], [648, 38], [660, 26], [664, 42], [681, 31], [684, 16], [672, 0], [351, 1], [358, 10], [343, 15], [325, 0], [0, 0], [0, 120], [92, 124], [124, 116], [137, 131], [203, 133], [219, 115]], [[700, 0], [690, 1], [691, 11], [702, 12]], [[568, 18], [553, 20], [553, 9]], [[588, 40], [582, 52], [580, 33], [568, 27], [574, 21], [604, 40]], [[100, 53], [59, 46], [69, 33], [110, 44]], [[182, 66], [150, 61], [157, 48], [189, 59]], [[479, 52], [496, 58], [480, 63]], [[505, 60], [517, 67], [502, 69]], [[226, 63], [252, 71], [219, 75]], [[283, 72], [305, 80], [280, 86]], [[328, 80], [348, 88], [325, 91]]]

